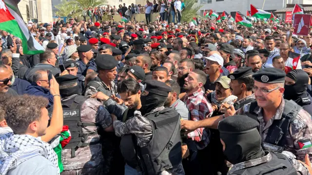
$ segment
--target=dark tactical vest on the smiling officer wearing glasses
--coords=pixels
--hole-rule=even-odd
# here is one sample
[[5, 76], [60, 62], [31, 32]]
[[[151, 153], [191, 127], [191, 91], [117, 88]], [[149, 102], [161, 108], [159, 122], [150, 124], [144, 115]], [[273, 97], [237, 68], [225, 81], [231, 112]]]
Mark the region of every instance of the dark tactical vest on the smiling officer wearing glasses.
[[[270, 126], [268, 135], [264, 141], [262, 141], [262, 147], [271, 152], [281, 153], [286, 145], [286, 135], [289, 132], [289, 125], [297, 117], [297, 114], [302, 109], [297, 103], [292, 100], [285, 100], [285, 106], [283, 109], [282, 117], [279, 120], [274, 120], [272, 126]], [[254, 109], [257, 107], [257, 102], [250, 103], [249, 117], [258, 121], [257, 114], [254, 113]]]

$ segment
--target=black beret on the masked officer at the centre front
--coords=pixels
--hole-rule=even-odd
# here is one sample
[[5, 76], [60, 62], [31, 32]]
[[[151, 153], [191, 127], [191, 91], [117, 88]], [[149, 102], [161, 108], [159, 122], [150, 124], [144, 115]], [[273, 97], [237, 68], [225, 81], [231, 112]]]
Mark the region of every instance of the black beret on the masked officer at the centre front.
[[149, 93], [168, 97], [168, 94], [171, 92], [171, 87], [164, 82], [157, 80], [147, 80], [145, 81], [145, 83], [146, 83], [145, 90]]

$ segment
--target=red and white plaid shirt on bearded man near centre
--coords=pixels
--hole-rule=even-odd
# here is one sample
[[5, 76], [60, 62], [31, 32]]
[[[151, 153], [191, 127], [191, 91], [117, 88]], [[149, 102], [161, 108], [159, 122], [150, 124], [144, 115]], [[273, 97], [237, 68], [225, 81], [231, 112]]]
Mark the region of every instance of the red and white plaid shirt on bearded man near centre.
[[[184, 98], [184, 103], [191, 112], [191, 120], [199, 121], [211, 117], [214, 110], [208, 102], [204, 91], [200, 88], [192, 94], [188, 94]], [[189, 133], [188, 138], [192, 138], [197, 142], [197, 149], [204, 149], [208, 143], [208, 133], [205, 128], [197, 128], [195, 131]]]

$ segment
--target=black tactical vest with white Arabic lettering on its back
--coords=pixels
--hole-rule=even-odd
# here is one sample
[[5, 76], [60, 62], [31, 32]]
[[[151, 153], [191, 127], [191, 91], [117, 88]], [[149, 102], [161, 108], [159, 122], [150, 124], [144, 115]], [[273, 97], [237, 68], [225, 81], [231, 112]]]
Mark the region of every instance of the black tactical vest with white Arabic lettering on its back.
[[[98, 135], [98, 132], [92, 134], [84, 134], [82, 132], [82, 128], [86, 126], [94, 126], [97, 125], [91, 122], [82, 122], [81, 121], [81, 106], [88, 97], [84, 96], [75, 96], [66, 101], [62, 101], [62, 108], [63, 108], [63, 125], [67, 125], [68, 129], [71, 133], [71, 139], [69, 143], [63, 149], [71, 149], [72, 158], [75, 157], [75, 151], [77, 151], [80, 147], [85, 147], [89, 145], [95, 145], [99, 142], [90, 142], [84, 143], [88, 136]], [[49, 109], [49, 116], [52, 115], [53, 109]]]

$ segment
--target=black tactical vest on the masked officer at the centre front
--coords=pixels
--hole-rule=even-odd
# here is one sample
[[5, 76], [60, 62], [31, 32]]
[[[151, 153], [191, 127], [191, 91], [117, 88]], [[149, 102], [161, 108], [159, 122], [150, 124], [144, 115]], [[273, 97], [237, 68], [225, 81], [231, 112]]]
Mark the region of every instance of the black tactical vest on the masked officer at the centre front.
[[153, 136], [145, 147], [137, 146], [134, 135], [121, 138], [120, 150], [129, 166], [144, 175], [157, 175], [182, 161], [180, 115], [172, 108], [147, 114]]

